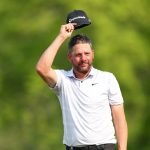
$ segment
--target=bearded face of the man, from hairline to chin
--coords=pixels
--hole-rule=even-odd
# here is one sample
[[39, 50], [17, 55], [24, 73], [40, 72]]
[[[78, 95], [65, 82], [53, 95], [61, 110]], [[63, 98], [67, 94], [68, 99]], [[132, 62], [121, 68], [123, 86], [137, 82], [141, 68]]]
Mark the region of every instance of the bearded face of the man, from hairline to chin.
[[91, 69], [94, 53], [88, 43], [79, 43], [72, 48], [68, 58], [74, 71], [86, 74]]

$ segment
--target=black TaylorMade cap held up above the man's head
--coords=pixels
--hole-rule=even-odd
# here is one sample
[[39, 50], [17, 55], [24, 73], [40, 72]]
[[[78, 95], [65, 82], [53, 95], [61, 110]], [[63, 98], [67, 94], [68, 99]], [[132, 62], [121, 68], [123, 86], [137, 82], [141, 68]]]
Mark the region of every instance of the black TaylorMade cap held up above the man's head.
[[76, 23], [75, 29], [79, 29], [91, 24], [91, 20], [87, 17], [83, 10], [74, 10], [67, 15], [66, 23]]

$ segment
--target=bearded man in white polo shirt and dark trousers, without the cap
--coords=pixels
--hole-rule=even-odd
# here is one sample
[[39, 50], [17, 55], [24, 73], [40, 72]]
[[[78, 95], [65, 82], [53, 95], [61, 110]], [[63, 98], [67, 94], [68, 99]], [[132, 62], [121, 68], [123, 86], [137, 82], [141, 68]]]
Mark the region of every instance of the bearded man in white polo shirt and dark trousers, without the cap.
[[127, 123], [120, 88], [112, 73], [92, 66], [94, 51], [90, 39], [76, 35], [70, 40], [70, 71], [52, 68], [60, 46], [73, 31], [73, 24], [62, 25], [36, 66], [59, 98], [66, 150], [114, 150], [116, 139], [118, 150], [126, 150]]

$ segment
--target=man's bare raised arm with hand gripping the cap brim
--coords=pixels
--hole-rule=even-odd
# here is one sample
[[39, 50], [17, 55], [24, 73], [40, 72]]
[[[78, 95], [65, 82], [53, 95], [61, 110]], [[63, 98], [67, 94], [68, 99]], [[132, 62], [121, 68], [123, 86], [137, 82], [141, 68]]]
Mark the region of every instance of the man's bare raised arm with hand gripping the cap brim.
[[55, 71], [52, 68], [53, 61], [55, 56], [63, 44], [63, 42], [69, 38], [74, 31], [73, 24], [69, 23], [62, 25], [60, 33], [57, 35], [55, 40], [50, 44], [50, 46], [43, 52], [40, 57], [37, 65], [37, 73], [44, 79], [44, 81], [50, 86], [54, 87], [57, 82], [57, 76]]

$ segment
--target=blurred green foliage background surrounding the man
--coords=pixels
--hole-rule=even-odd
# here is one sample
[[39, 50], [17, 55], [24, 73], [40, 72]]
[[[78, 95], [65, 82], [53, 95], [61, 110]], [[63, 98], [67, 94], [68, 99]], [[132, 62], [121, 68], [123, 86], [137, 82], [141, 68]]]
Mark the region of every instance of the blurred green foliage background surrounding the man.
[[[64, 150], [59, 102], [36, 74], [42, 54], [74, 9], [92, 21], [94, 65], [113, 72], [125, 100], [128, 150], [150, 149], [149, 0], [1, 0], [0, 150]], [[54, 67], [69, 68], [67, 42]]]

